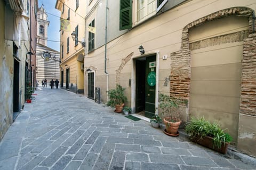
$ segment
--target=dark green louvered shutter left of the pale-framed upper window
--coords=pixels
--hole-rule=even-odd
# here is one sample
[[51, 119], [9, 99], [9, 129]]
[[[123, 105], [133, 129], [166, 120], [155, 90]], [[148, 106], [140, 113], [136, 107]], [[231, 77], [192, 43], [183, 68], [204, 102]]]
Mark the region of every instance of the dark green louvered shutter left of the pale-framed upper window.
[[120, 0], [119, 30], [132, 28], [132, 0]]

